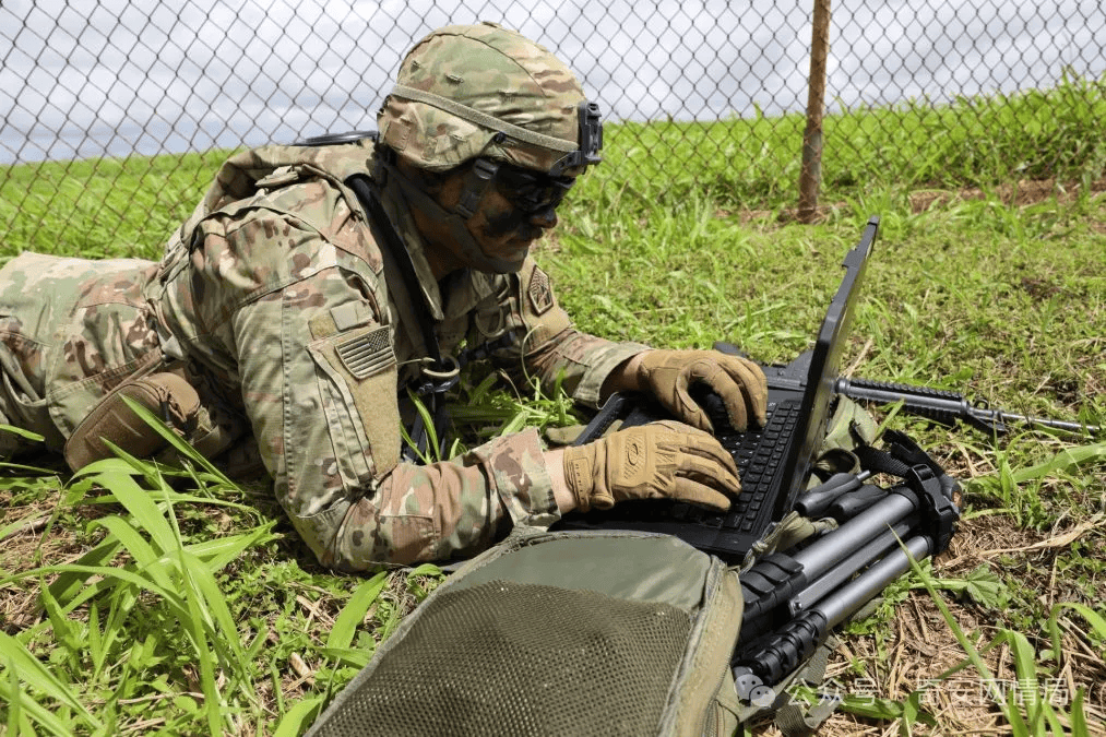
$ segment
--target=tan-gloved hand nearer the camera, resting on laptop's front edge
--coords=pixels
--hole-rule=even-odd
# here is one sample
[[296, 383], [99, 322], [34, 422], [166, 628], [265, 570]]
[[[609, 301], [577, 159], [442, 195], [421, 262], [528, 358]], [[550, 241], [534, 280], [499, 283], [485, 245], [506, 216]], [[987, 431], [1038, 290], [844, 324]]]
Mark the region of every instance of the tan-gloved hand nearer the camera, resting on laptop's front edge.
[[564, 449], [564, 477], [582, 511], [668, 497], [719, 510], [741, 491], [733, 458], [713, 437], [664, 421]]

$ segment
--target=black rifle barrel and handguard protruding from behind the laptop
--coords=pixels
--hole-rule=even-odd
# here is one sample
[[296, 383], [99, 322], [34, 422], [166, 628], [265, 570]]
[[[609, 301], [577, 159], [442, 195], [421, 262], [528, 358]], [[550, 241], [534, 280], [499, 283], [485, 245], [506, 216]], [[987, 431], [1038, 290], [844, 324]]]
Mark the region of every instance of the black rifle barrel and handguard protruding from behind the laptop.
[[969, 402], [962, 394], [928, 386], [911, 386], [909, 384], [893, 384], [875, 382], [866, 378], [838, 378], [834, 391], [852, 399], [874, 402], [876, 404], [902, 403], [902, 409], [912, 415], [931, 419], [941, 425], [952, 426], [958, 421], [988, 435], [1002, 435], [1010, 430], [1010, 423], [1036, 427], [1050, 427], [1065, 433], [1102, 436], [1099, 425], [1083, 425], [1082, 423], [1045, 417], [1030, 417], [1002, 409], [992, 409], [985, 399]]

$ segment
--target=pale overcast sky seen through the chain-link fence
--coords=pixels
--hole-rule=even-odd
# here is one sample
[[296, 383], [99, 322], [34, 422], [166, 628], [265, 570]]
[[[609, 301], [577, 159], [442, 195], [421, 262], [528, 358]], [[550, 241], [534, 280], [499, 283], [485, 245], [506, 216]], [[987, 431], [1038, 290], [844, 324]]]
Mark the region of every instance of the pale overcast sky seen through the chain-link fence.
[[[763, 4], [2, 0], [0, 163], [374, 128], [403, 52], [434, 28], [477, 20], [554, 50], [608, 120], [803, 110], [813, 3]], [[1046, 87], [1065, 66], [1103, 74], [1100, 0], [1042, 4], [838, 0], [827, 102]]]

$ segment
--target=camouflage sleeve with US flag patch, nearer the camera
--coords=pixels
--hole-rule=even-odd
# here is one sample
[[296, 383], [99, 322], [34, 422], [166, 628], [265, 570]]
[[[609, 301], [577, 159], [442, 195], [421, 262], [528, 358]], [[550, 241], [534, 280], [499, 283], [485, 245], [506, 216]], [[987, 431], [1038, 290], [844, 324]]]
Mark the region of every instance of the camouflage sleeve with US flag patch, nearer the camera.
[[[536, 433], [432, 466], [398, 463], [397, 367], [366, 281], [373, 274], [300, 220], [254, 217], [226, 250], [209, 243], [202, 290], [210, 302], [238, 305], [223, 342], [238, 357], [278, 499], [320, 561], [364, 570], [446, 560], [488, 547], [512, 523], [551, 523], [556, 504]], [[254, 247], [250, 257], [268, 263], [229, 267], [241, 258], [231, 255], [250, 253], [271, 232], [282, 248]], [[249, 286], [243, 271], [280, 269], [290, 272], [260, 297], [213, 293], [237, 289], [227, 273]]]

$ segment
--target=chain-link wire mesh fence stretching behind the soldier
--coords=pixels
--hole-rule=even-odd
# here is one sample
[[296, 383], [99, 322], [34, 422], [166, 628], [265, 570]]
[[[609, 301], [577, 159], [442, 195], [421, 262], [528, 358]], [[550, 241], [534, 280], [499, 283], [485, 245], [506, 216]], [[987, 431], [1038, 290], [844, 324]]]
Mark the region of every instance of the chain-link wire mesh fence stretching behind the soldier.
[[[620, 179], [665, 147], [680, 166], [658, 178], [721, 162], [741, 176], [783, 173], [797, 193], [814, 1], [3, 0], [0, 242], [81, 247], [142, 214], [119, 236], [158, 243], [229, 150], [374, 128], [413, 42], [478, 20], [553, 50], [606, 121], [624, 124], [603, 176]], [[827, 38], [827, 166], [866, 145], [863, 126], [835, 138], [833, 120], [1072, 77], [1100, 86], [1106, 71], [1099, 0], [843, 0]]]

